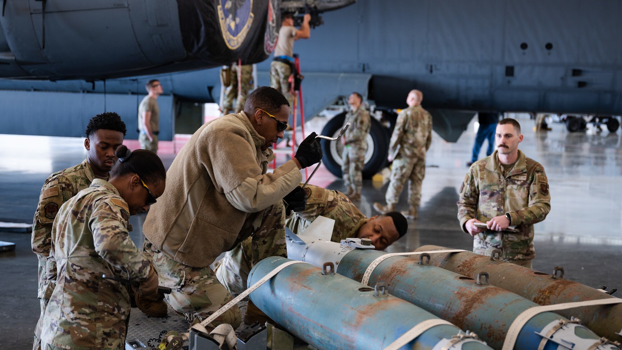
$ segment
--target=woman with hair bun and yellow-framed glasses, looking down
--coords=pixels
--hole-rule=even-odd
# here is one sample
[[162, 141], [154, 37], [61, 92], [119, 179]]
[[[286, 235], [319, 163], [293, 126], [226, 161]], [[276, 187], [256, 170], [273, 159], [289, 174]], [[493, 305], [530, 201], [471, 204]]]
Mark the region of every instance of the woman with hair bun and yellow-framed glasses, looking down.
[[130, 239], [128, 220], [162, 195], [166, 171], [151, 151], [119, 146], [115, 154], [109, 181], [93, 180], [58, 210], [52, 228], [58, 281], [45, 310], [42, 349], [124, 349], [128, 285], [102, 275], [139, 282], [137, 301], [164, 305], [157, 272]]

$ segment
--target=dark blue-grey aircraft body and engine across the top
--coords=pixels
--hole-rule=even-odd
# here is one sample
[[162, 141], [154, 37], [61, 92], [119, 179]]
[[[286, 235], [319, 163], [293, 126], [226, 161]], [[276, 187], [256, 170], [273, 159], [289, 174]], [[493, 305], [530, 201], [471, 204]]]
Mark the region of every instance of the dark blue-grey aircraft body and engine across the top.
[[[244, 59], [269, 70], [264, 47], [270, 4], [238, 2], [257, 15], [246, 41], [231, 50], [220, 26], [205, 22], [211, 18], [203, 16], [207, 7], [193, 1], [49, 1], [45, 21], [41, 1], [7, 1], [0, 17], [6, 38], [0, 40], [0, 76], [57, 81], [2, 80], [0, 88], [101, 93], [98, 80], [105, 78], [108, 93], [136, 93], [137, 82], [142, 93], [144, 81], [156, 76], [169, 82], [165, 93], [176, 98], [211, 101], [220, 92], [218, 71], [200, 68]], [[288, 3], [300, 9], [305, 2], [281, 6]], [[314, 3], [335, 9], [348, 2]], [[622, 2], [616, 0], [361, 0], [323, 13], [325, 24], [297, 42], [295, 52], [303, 73], [369, 74], [366, 93], [378, 106], [402, 108], [409, 90], [422, 90], [435, 129], [461, 131], [478, 110], [620, 115], [620, 13]], [[201, 37], [197, 28], [218, 35]], [[186, 70], [193, 71], [180, 72]], [[138, 74], [144, 76], [129, 78]], [[60, 81], [66, 78], [81, 81]], [[334, 98], [317, 98], [332, 92], [315, 85], [304, 90], [305, 100]], [[317, 112], [312, 105], [305, 106], [307, 115]]]

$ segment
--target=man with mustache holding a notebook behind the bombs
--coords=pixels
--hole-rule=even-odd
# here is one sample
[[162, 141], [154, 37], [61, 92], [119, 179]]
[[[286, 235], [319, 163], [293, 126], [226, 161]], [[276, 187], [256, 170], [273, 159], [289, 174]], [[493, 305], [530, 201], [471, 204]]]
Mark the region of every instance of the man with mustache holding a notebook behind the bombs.
[[[458, 220], [473, 236], [473, 252], [490, 255], [500, 249], [503, 260], [531, 268], [536, 257], [534, 224], [550, 211], [549, 182], [540, 163], [519, 151], [521, 125], [499, 121], [496, 151], [471, 165], [460, 186]], [[478, 227], [478, 222], [486, 227]]]

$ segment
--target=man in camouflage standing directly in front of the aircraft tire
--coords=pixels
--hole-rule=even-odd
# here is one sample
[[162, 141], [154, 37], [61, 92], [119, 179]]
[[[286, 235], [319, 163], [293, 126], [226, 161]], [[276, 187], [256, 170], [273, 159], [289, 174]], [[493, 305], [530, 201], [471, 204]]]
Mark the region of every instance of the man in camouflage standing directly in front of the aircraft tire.
[[361, 197], [363, 187], [363, 167], [365, 166], [365, 153], [367, 152], [367, 135], [371, 128], [369, 113], [361, 106], [363, 97], [354, 92], [348, 98], [350, 110], [346, 113], [343, 126], [350, 123], [341, 142], [344, 144], [341, 152], [341, 173], [343, 174], [343, 186], [347, 188], [345, 193], [350, 199]]

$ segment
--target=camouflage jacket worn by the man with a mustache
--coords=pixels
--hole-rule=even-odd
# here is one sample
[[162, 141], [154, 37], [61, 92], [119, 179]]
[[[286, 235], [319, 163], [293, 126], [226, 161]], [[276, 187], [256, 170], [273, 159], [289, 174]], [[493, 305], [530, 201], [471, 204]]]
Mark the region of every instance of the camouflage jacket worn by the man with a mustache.
[[504, 260], [530, 260], [536, 257], [534, 224], [550, 211], [549, 182], [542, 165], [521, 151], [514, 167], [503, 176], [497, 154], [494, 151], [476, 161], [466, 173], [458, 201], [460, 227], [466, 232], [470, 219], [488, 222], [509, 213], [510, 224], [517, 225], [519, 232], [486, 230], [475, 235], [473, 252], [490, 256], [494, 249], [501, 249]]

